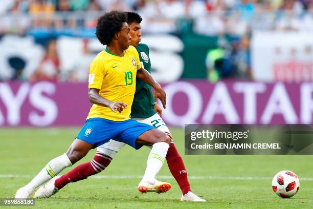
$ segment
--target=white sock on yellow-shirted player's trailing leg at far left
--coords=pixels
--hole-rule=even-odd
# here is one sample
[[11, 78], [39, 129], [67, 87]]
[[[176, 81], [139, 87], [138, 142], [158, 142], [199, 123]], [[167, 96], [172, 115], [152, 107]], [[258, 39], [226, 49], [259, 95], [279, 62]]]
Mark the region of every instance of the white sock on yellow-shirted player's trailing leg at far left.
[[35, 190], [38, 186], [58, 175], [66, 167], [72, 166], [69, 157], [64, 153], [48, 162], [48, 164], [26, 186]]

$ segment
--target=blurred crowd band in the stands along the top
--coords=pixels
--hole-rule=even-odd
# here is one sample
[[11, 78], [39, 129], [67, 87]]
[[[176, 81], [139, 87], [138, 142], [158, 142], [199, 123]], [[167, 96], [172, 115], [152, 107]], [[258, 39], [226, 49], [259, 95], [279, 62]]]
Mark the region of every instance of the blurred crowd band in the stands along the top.
[[137, 11], [147, 32], [176, 32], [177, 19], [192, 20], [193, 30], [207, 35], [313, 31], [313, 0], [2, 0], [0, 33], [23, 33], [30, 27], [92, 28], [98, 13], [109, 10]]

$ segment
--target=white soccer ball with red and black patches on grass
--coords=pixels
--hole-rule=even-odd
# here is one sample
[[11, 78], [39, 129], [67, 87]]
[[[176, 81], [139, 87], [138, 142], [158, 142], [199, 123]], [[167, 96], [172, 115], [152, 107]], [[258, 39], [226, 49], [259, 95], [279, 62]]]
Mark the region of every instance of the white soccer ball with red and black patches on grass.
[[272, 181], [273, 191], [282, 198], [294, 196], [299, 191], [299, 187], [299, 178], [291, 171], [278, 172]]

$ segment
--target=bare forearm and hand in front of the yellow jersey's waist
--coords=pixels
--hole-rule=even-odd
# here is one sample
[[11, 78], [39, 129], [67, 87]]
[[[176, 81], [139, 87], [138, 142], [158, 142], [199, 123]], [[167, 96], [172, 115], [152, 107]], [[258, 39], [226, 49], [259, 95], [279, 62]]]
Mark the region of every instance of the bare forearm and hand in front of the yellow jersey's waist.
[[127, 105], [124, 102], [121, 102], [121, 101], [113, 102], [113, 101], [103, 98], [99, 94], [99, 91], [100, 91], [99, 89], [93, 89], [93, 88], [89, 89], [88, 98], [90, 102], [96, 105], [101, 105], [103, 107], [110, 108], [115, 113], [116, 111], [119, 111], [119, 113], [121, 113], [123, 111], [123, 108], [127, 107]]

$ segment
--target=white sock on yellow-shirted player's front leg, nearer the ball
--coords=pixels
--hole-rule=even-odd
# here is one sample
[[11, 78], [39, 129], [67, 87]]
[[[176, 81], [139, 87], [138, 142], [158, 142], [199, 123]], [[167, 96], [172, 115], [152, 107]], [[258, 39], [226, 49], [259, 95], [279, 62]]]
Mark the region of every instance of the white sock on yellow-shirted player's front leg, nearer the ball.
[[157, 175], [162, 168], [168, 148], [169, 144], [165, 142], [153, 144], [151, 152], [148, 156], [147, 168], [142, 181], [154, 182], [155, 175]]

